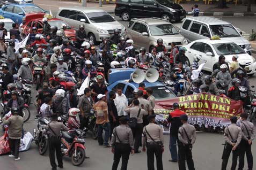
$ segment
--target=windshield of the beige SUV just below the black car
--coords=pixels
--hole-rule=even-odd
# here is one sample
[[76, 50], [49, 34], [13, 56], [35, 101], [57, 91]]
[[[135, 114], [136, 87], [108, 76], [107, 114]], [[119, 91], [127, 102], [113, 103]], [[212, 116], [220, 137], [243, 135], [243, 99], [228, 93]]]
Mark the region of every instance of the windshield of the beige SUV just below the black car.
[[152, 36], [179, 34], [178, 30], [171, 24], [150, 25], [149, 29]]

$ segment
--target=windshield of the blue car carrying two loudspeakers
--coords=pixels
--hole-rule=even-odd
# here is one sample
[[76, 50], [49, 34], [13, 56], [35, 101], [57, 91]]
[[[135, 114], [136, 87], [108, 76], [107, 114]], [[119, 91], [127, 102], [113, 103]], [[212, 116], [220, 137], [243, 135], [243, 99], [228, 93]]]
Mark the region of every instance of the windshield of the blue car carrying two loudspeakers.
[[165, 86], [150, 87], [156, 100], [164, 100], [176, 97], [175, 94]]

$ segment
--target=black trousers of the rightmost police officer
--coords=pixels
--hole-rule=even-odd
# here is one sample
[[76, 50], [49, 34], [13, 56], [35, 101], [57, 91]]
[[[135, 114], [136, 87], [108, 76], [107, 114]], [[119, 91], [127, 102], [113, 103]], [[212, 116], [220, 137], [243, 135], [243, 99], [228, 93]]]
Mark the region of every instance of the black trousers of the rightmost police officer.
[[239, 155], [239, 165], [238, 170], [243, 170], [244, 168], [244, 155], [246, 153], [248, 170], [252, 170], [253, 166], [253, 157], [252, 157], [252, 145], [249, 145], [247, 141], [242, 140], [240, 142], [240, 155]]

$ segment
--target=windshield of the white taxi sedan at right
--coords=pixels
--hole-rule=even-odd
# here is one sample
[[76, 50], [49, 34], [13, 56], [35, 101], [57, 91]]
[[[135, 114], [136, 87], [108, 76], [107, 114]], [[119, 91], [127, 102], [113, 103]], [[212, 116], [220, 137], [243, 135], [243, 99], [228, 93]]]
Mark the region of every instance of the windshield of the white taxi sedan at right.
[[235, 43], [213, 44], [213, 47], [219, 56], [245, 53], [245, 51]]

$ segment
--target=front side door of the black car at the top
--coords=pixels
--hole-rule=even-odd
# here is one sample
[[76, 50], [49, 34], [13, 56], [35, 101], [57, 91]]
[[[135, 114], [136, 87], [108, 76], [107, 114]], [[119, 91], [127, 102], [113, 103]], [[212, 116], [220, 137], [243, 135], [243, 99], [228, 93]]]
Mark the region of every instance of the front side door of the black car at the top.
[[153, 0], [143, 0], [143, 17], [159, 17], [160, 8]]

